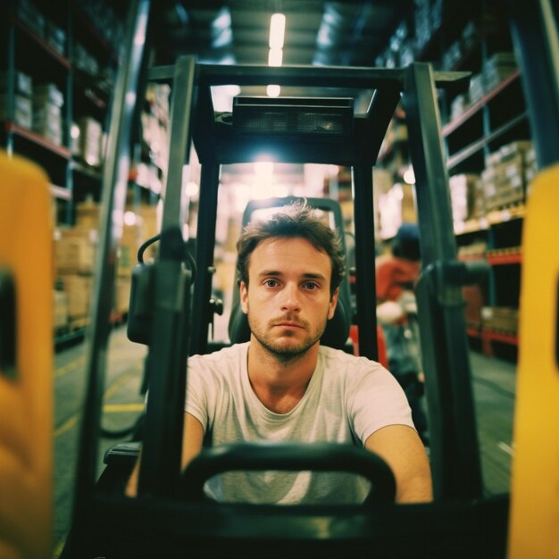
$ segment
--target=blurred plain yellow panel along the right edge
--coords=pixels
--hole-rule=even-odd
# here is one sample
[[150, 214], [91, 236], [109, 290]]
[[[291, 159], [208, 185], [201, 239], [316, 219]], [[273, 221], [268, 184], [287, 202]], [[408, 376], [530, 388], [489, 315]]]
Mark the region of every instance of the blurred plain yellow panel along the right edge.
[[509, 559], [559, 558], [559, 165], [532, 184], [523, 225]]

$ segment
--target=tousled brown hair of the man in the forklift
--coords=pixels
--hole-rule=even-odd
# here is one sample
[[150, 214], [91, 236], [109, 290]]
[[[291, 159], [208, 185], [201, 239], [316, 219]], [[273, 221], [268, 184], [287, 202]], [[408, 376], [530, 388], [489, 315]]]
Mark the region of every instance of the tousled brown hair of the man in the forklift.
[[238, 280], [248, 286], [248, 264], [256, 246], [268, 238], [305, 238], [317, 250], [330, 256], [330, 294], [338, 288], [346, 272], [346, 259], [337, 231], [321, 221], [320, 213], [305, 202], [289, 204], [268, 221], [252, 221], [238, 239]]

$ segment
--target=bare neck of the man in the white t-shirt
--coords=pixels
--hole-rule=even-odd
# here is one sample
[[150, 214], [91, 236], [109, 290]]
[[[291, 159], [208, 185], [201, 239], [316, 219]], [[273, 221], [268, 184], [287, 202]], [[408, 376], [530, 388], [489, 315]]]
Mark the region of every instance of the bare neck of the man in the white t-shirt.
[[248, 348], [248, 380], [254, 394], [271, 412], [288, 413], [305, 396], [318, 359], [319, 344], [304, 355], [285, 360], [254, 339]]

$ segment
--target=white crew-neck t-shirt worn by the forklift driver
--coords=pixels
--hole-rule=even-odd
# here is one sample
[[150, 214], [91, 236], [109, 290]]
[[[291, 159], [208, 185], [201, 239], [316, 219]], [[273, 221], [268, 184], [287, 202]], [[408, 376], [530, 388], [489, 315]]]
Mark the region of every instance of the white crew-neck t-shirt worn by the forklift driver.
[[[410, 407], [380, 363], [321, 346], [305, 396], [288, 413], [273, 413], [248, 380], [249, 342], [188, 360], [186, 410], [212, 445], [241, 441], [338, 442], [363, 446], [387, 425], [413, 427]], [[361, 503], [370, 489], [355, 474], [234, 471], [213, 477], [206, 493], [218, 501], [272, 504]]]

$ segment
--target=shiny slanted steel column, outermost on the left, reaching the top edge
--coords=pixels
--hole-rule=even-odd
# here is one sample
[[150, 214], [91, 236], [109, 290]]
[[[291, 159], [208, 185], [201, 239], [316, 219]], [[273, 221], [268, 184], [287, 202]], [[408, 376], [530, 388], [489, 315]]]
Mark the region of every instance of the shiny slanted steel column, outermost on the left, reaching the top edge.
[[91, 326], [88, 330], [88, 388], [79, 438], [74, 499], [76, 511], [79, 511], [91, 496], [96, 483], [106, 347], [113, 301], [114, 267], [122, 232], [129, 178], [129, 144], [145, 47], [145, 40], [138, 40], [138, 38], [146, 38], [149, 10], [149, 0], [135, 0], [131, 3], [127, 22], [127, 43], [113, 96], [113, 116], [103, 173], [103, 206], [96, 253]]

